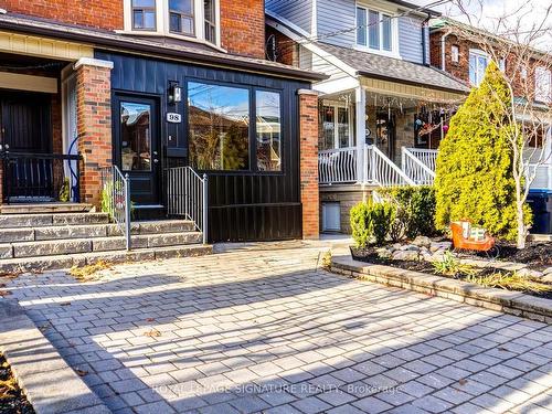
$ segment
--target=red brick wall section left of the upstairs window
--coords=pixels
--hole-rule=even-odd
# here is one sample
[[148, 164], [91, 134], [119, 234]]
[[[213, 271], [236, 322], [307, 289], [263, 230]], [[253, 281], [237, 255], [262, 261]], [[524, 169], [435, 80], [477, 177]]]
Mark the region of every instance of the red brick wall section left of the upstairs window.
[[100, 29], [123, 29], [123, 0], [2, 0], [9, 12]]

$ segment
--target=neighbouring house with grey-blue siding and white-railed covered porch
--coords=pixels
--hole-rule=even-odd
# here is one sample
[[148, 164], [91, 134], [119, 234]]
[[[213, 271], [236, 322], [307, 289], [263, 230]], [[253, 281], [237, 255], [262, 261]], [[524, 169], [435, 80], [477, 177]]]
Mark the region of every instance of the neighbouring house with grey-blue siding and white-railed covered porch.
[[266, 0], [266, 15], [268, 57], [329, 75], [314, 85], [322, 231], [349, 231], [350, 208], [379, 187], [432, 182], [431, 149], [469, 92], [429, 66], [438, 13], [393, 0]]

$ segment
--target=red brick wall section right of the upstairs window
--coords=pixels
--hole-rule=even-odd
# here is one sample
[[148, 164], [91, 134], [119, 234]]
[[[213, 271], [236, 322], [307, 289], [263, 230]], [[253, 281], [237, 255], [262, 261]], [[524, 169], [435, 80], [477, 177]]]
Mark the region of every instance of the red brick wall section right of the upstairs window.
[[264, 0], [220, 1], [222, 46], [234, 54], [264, 59]]

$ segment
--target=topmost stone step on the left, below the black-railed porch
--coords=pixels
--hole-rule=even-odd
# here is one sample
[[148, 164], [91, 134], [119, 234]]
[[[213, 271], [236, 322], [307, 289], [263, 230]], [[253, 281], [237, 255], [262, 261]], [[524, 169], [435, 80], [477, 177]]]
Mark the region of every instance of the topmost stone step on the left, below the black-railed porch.
[[71, 224], [107, 224], [107, 213], [1, 214], [0, 229], [38, 227]]

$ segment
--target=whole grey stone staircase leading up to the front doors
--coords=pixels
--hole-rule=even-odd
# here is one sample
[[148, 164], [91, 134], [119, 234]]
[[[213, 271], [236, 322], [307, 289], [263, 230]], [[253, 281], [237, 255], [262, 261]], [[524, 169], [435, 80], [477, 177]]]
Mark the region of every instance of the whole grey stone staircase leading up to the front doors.
[[0, 275], [212, 253], [191, 221], [132, 222], [130, 233], [127, 252], [123, 232], [106, 213], [0, 214]]

